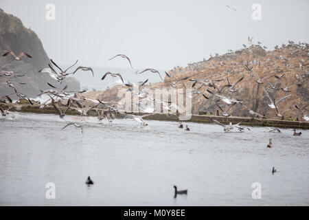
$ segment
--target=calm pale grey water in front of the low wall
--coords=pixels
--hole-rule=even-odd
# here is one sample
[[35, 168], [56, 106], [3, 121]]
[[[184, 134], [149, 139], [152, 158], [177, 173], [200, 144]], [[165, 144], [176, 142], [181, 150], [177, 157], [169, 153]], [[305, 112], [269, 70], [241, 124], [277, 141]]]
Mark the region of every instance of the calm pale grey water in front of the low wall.
[[[223, 133], [212, 124], [132, 120], [81, 122], [19, 113], [0, 119], [0, 205], [309, 205], [309, 131]], [[272, 137], [275, 146], [266, 148]], [[275, 166], [278, 173], [272, 175]], [[90, 175], [95, 184], [86, 186]], [[260, 182], [262, 199], [252, 199]], [[56, 199], [46, 199], [47, 182]], [[173, 197], [174, 184], [188, 195]]]

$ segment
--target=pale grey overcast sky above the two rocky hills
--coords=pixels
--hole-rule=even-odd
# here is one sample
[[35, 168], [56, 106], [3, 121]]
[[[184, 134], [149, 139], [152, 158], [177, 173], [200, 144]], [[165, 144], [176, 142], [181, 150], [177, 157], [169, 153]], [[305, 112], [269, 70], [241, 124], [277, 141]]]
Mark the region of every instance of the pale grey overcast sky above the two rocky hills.
[[[45, 5], [54, 3], [56, 20], [47, 21]], [[260, 3], [262, 20], [251, 18]], [[236, 8], [228, 10], [226, 5]], [[126, 54], [133, 67], [172, 69], [176, 65], [237, 50], [247, 37], [274, 45], [309, 42], [308, 0], [1, 0], [0, 7], [34, 30], [50, 58], [58, 63], [129, 67], [115, 54]]]

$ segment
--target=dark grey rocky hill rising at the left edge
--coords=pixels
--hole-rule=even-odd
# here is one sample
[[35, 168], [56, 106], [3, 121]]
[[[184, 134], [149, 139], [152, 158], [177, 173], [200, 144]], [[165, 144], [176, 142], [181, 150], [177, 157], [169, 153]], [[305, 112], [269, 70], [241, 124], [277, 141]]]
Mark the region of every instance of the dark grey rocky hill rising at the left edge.
[[[2, 54], [9, 51], [14, 51], [16, 55], [20, 52], [26, 52], [32, 58], [23, 57], [23, 61], [15, 61], [12, 56], [2, 56]], [[27, 85], [16, 84], [18, 92], [36, 97], [40, 89], [50, 88], [47, 86], [47, 82], [58, 84], [48, 74], [38, 73], [38, 70], [47, 67], [49, 57], [36, 33], [25, 28], [19, 18], [14, 17], [12, 14], [6, 14], [1, 9], [0, 54], [0, 71], [14, 71], [25, 74], [25, 77], [12, 76], [8, 78], [13, 82], [27, 83]], [[3, 84], [3, 82], [5, 82], [5, 78], [1, 77], [0, 96], [14, 93], [14, 89]], [[64, 83], [69, 85], [69, 89], [80, 89], [80, 83], [74, 78], [68, 78]]]

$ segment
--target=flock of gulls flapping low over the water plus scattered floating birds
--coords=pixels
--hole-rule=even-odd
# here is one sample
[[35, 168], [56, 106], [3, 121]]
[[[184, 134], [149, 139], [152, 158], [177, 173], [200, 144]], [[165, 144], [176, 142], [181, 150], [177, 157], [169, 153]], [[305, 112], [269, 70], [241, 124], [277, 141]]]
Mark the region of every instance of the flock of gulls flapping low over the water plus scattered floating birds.
[[[231, 9], [231, 10], [233, 10], [233, 9]], [[248, 40], [251, 42], [252, 38], [249, 37]], [[29, 54], [26, 54], [25, 52], [21, 52], [19, 54], [19, 56], [16, 56], [14, 54], [14, 52], [12, 52], [12, 51], [6, 52], [5, 54], [3, 54], [3, 56], [10, 56], [10, 55], [13, 56], [14, 60], [16, 60], [16, 61], [21, 61], [21, 58], [23, 56], [25, 56], [27, 58], [32, 58], [32, 56], [30, 56]], [[117, 58], [117, 57], [126, 59], [126, 61], [128, 61], [128, 63], [130, 64], [130, 67], [133, 69], [130, 58], [128, 58], [128, 56], [126, 56], [124, 54], [117, 54], [116, 56], [113, 56], [110, 60], [112, 60], [113, 58]], [[78, 72], [78, 71], [91, 72], [92, 76], [94, 76], [94, 72], [93, 72], [93, 69], [91, 67], [79, 66], [74, 71], [70, 71], [70, 69], [73, 66], [75, 66], [78, 63], [78, 61], [76, 61], [73, 65], [71, 65], [67, 69], [62, 69], [52, 59], [50, 61], [51, 61], [51, 63], [48, 64], [48, 67], [41, 69], [39, 71], [39, 73], [49, 74], [49, 76], [51, 76], [54, 80], [58, 81], [60, 83], [60, 85], [63, 82], [63, 80], [65, 80], [65, 78], [67, 76], [76, 74], [76, 72]], [[258, 65], [260, 66], [260, 63], [258, 63]], [[249, 63], [244, 63], [244, 68], [249, 73], [253, 72], [253, 67], [249, 67]], [[148, 69], [144, 69], [141, 72], [136, 72], [136, 74], [144, 74], [145, 72], [157, 74], [159, 76], [159, 78], [163, 81], [163, 78], [161, 77], [161, 74], [157, 69], [148, 68]], [[15, 78], [22, 78], [25, 75], [16, 74], [12, 71], [11, 72], [9, 72], [9, 71], [1, 71], [0, 72], [0, 77], [5, 78], [5, 84], [8, 85], [8, 87], [10, 87], [14, 90], [14, 92], [12, 92], [12, 94], [8, 94], [8, 95], [0, 97], [0, 102], [3, 102], [5, 104], [10, 104], [10, 103], [13, 102], [12, 99], [10, 98], [10, 96], [15, 95], [19, 98], [23, 98], [23, 99], [27, 100], [31, 105], [34, 104], [34, 100], [31, 100], [31, 98], [28, 97], [25, 94], [19, 93], [17, 91], [16, 87], [15, 87], [16, 83], [18, 83], [20, 85], [25, 85], [26, 83], [12, 82], [9, 79], [11, 76], [16, 76]], [[235, 94], [236, 91], [238, 91], [238, 89], [240, 88], [240, 84], [242, 83], [242, 80], [244, 80], [244, 74], [242, 74], [242, 76], [238, 80], [236, 80], [236, 82], [234, 82], [234, 83], [231, 82], [231, 80], [229, 78], [229, 74], [227, 74], [227, 78], [226, 78], [227, 83], [225, 85], [221, 86], [221, 87], [218, 87], [217, 82], [218, 81], [224, 82], [225, 79], [223, 79], [223, 78], [216, 79], [216, 80], [213, 79], [213, 78], [194, 79], [194, 78], [189, 78], [189, 77], [174, 79], [174, 78], [172, 78], [172, 76], [170, 74], [168, 74], [168, 72], [165, 72], [165, 76], [167, 76], [170, 79], [170, 87], [172, 89], [177, 88], [179, 84], [181, 84], [181, 87], [185, 87], [185, 89], [187, 89], [188, 83], [190, 83], [191, 89], [192, 89], [192, 91], [191, 91], [192, 94], [197, 94], [198, 96], [201, 95], [206, 100], [209, 99], [209, 95], [218, 98], [218, 100], [216, 100], [216, 106], [220, 109], [220, 111], [222, 111], [222, 116], [224, 116], [224, 117], [227, 117], [227, 118], [230, 117], [231, 113], [229, 113], [229, 111], [230, 111], [231, 107], [233, 107], [236, 104], [240, 104], [242, 107], [247, 109], [253, 117], [264, 118], [264, 115], [261, 115], [260, 113], [257, 113], [255, 111], [253, 111], [252, 109], [250, 109], [249, 107], [247, 107], [242, 100], [238, 100], [237, 98], [232, 97], [232, 95]], [[255, 83], [258, 83], [259, 85], [264, 85], [264, 83], [266, 83], [265, 85], [270, 85], [271, 89], [275, 89], [276, 86], [277, 86], [277, 83], [279, 81], [283, 82], [282, 84], [284, 85], [284, 76], [285, 76], [285, 73], [281, 74], [280, 76], [278, 76], [277, 74], [273, 74], [271, 76], [268, 76], [268, 78], [271, 78], [271, 77], [275, 78], [275, 82], [273, 82], [273, 83], [266, 81], [266, 78], [260, 78], [260, 74], [258, 75], [258, 78], [255, 78], [254, 80], [255, 80]], [[160, 100], [160, 99], [151, 97], [149, 95], [148, 91], [146, 89], [144, 89], [146, 83], [148, 82], [148, 79], [146, 79], [143, 83], [139, 83], [138, 89], [136, 89], [133, 86], [133, 84], [125, 82], [124, 78], [122, 77], [122, 74], [106, 72], [102, 76], [101, 80], [104, 80], [107, 77], [119, 78], [122, 82], [122, 85], [124, 85], [128, 89], [128, 91], [132, 91], [139, 98], [144, 98], [146, 100], [150, 100], [150, 101], [157, 102], [159, 104], [163, 104], [163, 108], [166, 108], [168, 110], [171, 110], [172, 107], [174, 107], [177, 110], [181, 110], [178, 106], [176, 106], [176, 104], [174, 104], [174, 106], [172, 106], [173, 104], [171, 102], [169, 102], [168, 100]], [[187, 85], [185, 85], [185, 83], [187, 83]], [[56, 110], [56, 112], [58, 113], [60, 118], [64, 118], [68, 110], [77, 111], [82, 116], [89, 115], [89, 111], [95, 111], [96, 113], [98, 113], [98, 120], [99, 121], [106, 118], [108, 120], [108, 122], [112, 122], [116, 118], [117, 113], [119, 113], [119, 111], [117, 110], [117, 103], [116, 102], [106, 102], [104, 100], [99, 100], [99, 99], [93, 100], [91, 98], [86, 98], [86, 97], [82, 96], [82, 94], [84, 92], [86, 92], [87, 89], [83, 89], [82, 91], [68, 91], [67, 85], [65, 85], [62, 88], [56, 87], [56, 86], [52, 85], [52, 83], [47, 83], [47, 85], [49, 85], [49, 87], [51, 87], [51, 89], [41, 90], [41, 94], [38, 94], [38, 96], [47, 95], [49, 97], [44, 102], [39, 103], [40, 108], [45, 109], [45, 107], [48, 104], [52, 104], [52, 107], [54, 107], [54, 109]], [[198, 88], [196, 89], [197, 85], [198, 85]], [[207, 89], [206, 89], [207, 94], [200, 90], [203, 87], [207, 87]], [[225, 88], [227, 88], [227, 91], [229, 92], [229, 94], [231, 94], [231, 96], [228, 97], [228, 96], [225, 96], [225, 95], [222, 94], [222, 90], [225, 89]], [[282, 87], [281, 89], [282, 89], [282, 91], [284, 91], [284, 93], [290, 92], [290, 90], [289, 90], [290, 87]], [[266, 97], [270, 101], [270, 104], [268, 104], [268, 106], [271, 109], [276, 110], [275, 115], [277, 115], [277, 117], [283, 119], [284, 117], [283, 117], [282, 113], [279, 111], [277, 104], [279, 102], [284, 102], [284, 100], [290, 98], [291, 94], [287, 94], [286, 96], [280, 98], [279, 100], [275, 100], [275, 98], [272, 97], [271, 94], [268, 93], [265, 86], [264, 86], [263, 90], [264, 90], [264, 94], [266, 95]], [[185, 92], [185, 94], [186, 93], [187, 92]], [[90, 106], [90, 107], [86, 107], [85, 102], [88, 102], [87, 105]], [[225, 104], [227, 104], [227, 109], [223, 109], [220, 106], [219, 102], [224, 102]], [[91, 104], [89, 104], [89, 103], [91, 103]], [[14, 114], [12, 113], [12, 111], [10, 111], [10, 109], [12, 109], [12, 107], [15, 107], [17, 110], [21, 108], [21, 107], [19, 107], [19, 104], [16, 104], [16, 103], [12, 104], [12, 106], [8, 107], [8, 109], [3, 109], [3, 108], [0, 107], [2, 116], [5, 117], [6, 115], [12, 115], [12, 117], [14, 117]], [[145, 107], [142, 102], [139, 102], [137, 104], [137, 107], [141, 111], [148, 112], [148, 113], [152, 113], [155, 110], [155, 108], [153, 106]], [[308, 113], [305, 113], [296, 104], [295, 104], [295, 108], [298, 111], [301, 112], [304, 120], [306, 120], [306, 121], [309, 120], [309, 114]], [[169, 113], [169, 114], [175, 115], [178, 119], [181, 118], [181, 115], [179, 115], [179, 113]], [[144, 122], [144, 120], [143, 120], [143, 118], [145, 116], [147, 116], [147, 115], [127, 114], [127, 115], [124, 116], [124, 119], [135, 120], [135, 121], [139, 122], [139, 124], [141, 124], [143, 126], [147, 126], [148, 124], [146, 122]], [[240, 123], [222, 124], [221, 122], [214, 120], [214, 118], [210, 118], [210, 120], [211, 120], [211, 122], [214, 122], [215, 124], [222, 126], [223, 131], [225, 131], [225, 132], [230, 132], [233, 129], [235, 129], [236, 131], [239, 131], [239, 132], [244, 132], [246, 129], [248, 131], [250, 131], [249, 128], [245, 128], [243, 126], [240, 126]], [[75, 126], [76, 128], [80, 129], [81, 132], [83, 133], [82, 124], [79, 124], [77, 122], [69, 122], [68, 124], [63, 126], [62, 129], [66, 129], [68, 126]], [[179, 128], [183, 129], [183, 124], [181, 122], [179, 123]], [[187, 126], [187, 124], [185, 126], [185, 131], [190, 131], [190, 128]], [[294, 131], [293, 135], [295, 135], [295, 136], [301, 135], [301, 132], [297, 133], [297, 131], [295, 129], [293, 131]], [[269, 132], [281, 133], [281, 131], [277, 128], [269, 129]], [[273, 147], [273, 140], [272, 139], [269, 139], [269, 143], [267, 144], [267, 147], [268, 148]], [[275, 170], [275, 168], [273, 168], [272, 173], [275, 173], [275, 172], [276, 172], [276, 170]], [[90, 177], [88, 177], [86, 184], [93, 184], [93, 181], [91, 180]], [[187, 193], [187, 190], [177, 191], [176, 186], [174, 186], [174, 189], [175, 189], [175, 197], [176, 197], [177, 194], [186, 194]]]

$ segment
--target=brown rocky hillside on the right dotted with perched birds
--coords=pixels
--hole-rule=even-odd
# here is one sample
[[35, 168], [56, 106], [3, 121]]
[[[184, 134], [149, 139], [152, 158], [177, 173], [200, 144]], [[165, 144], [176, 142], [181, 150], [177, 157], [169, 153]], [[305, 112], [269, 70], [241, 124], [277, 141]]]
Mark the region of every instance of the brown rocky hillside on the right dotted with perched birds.
[[[222, 56], [215, 56], [209, 58], [207, 61], [201, 61], [197, 63], [190, 63], [187, 67], [175, 67], [168, 72], [174, 80], [189, 76], [190, 79], [222, 79], [220, 82], [216, 82], [216, 87], [222, 89], [223, 85], [227, 84], [227, 74], [229, 74], [229, 81], [231, 84], [235, 83], [244, 75], [244, 80], [240, 82], [235, 93], [228, 91], [228, 87], [222, 89], [223, 96], [229, 98], [237, 98], [242, 100], [243, 104], [253, 109], [260, 114], [266, 115], [267, 118], [276, 118], [275, 109], [270, 109], [268, 104], [271, 102], [264, 94], [264, 89], [269, 94], [279, 100], [284, 96], [291, 94], [289, 98], [277, 104], [279, 112], [284, 115], [284, 118], [295, 120], [299, 118], [302, 120], [301, 114], [294, 105], [297, 104], [305, 112], [309, 112], [309, 45], [307, 43], [295, 44], [289, 42], [288, 45], [282, 45], [281, 47], [276, 46], [273, 51], [266, 51], [260, 45], [251, 45], [235, 52], [229, 52]], [[247, 71], [245, 64], [251, 69]], [[151, 74], [151, 73], [148, 73]], [[163, 73], [161, 73], [163, 74]], [[259, 78], [262, 80], [262, 84], [255, 82]], [[281, 80], [277, 80], [276, 76], [284, 76]], [[272, 89], [271, 84], [276, 83], [275, 89]], [[190, 80], [185, 80], [187, 88], [192, 88]], [[166, 88], [170, 87], [170, 78], [165, 76], [164, 83], [152, 83], [147, 85], [146, 88]], [[201, 85], [196, 85], [194, 89], [197, 89]], [[183, 88], [183, 85], [179, 83], [179, 88]], [[284, 92], [282, 88], [288, 87], [289, 92]], [[115, 100], [118, 101], [117, 91], [122, 86], [116, 86], [106, 91], [91, 92], [86, 96], [93, 98], [102, 98], [103, 100]], [[199, 91], [203, 91], [209, 100], [203, 98], [203, 96], [193, 95], [192, 98], [192, 113], [198, 114], [200, 112], [205, 113], [216, 113], [218, 107], [216, 106], [216, 98], [207, 92], [207, 89], [218, 93], [214, 88], [207, 86], [202, 87]], [[225, 102], [218, 102], [220, 106], [225, 109], [227, 104]], [[236, 104], [231, 107], [233, 115], [249, 116], [249, 111], [244, 109], [240, 104]]]

